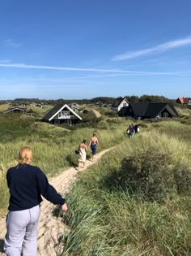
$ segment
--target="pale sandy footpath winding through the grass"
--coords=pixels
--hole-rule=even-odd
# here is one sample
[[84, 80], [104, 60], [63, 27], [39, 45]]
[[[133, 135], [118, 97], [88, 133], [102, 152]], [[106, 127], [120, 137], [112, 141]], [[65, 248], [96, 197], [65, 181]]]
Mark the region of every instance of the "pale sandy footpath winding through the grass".
[[[87, 160], [86, 168], [96, 163], [102, 155], [109, 150], [111, 149], [103, 150], [97, 154], [94, 162]], [[81, 170], [83, 171], [84, 169]], [[70, 184], [76, 180], [77, 173], [78, 171], [76, 171], [74, 167], [71, 167], [70, 169], [63, 171], [59, 176], [49, 179], [49, 183], [53, 184], [54, 188], [57, 189], [57, 192], [65, 194], [68, 191]], [[65, 225], [62, 222], [62, 218], [53, 217], [53, 209], [55, 209], [55, 206], [44, 199], [40, 206], [40, 220], [38, 226], [39, 256], [58, 256], [62, 253], [62, 247], [59, 247], [58, 241], [64, 233]], [[2, 241], [5, 233], [6, 226], [4, 218], [0, 219], [0, 256], [6, 255], [2, 253]]]

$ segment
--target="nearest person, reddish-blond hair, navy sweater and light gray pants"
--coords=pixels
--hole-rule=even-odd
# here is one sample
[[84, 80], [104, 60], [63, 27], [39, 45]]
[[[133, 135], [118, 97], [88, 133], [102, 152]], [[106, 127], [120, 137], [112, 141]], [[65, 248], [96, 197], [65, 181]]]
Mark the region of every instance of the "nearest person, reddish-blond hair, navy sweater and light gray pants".
[[32, 166], [32, 150], [19, 151], [19, 164], [6, 173], [10, 191], [4, 250], [8, 256], [36, 256], [36, 233], [40, 215], [41, 195], [49, 202], [67, 210], [65, 199], [53, 188], [43, 171]]

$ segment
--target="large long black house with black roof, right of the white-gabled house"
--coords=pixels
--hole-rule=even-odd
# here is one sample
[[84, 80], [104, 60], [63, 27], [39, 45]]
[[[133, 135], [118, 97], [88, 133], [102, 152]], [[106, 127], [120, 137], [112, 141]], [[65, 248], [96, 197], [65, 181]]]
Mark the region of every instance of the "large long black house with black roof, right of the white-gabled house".
[[119, 116], [134, 119], [151, 119], [162, 117], [178, 117], [178, 113], [171, 102], [132, 102], [121, 108]]

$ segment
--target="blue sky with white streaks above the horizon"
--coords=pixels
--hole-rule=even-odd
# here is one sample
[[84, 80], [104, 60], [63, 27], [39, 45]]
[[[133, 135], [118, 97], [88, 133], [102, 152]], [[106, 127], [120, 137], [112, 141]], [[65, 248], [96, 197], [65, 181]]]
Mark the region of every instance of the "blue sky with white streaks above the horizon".
[[191, 97], [190, 0], [1, 0], [0, 99]]

